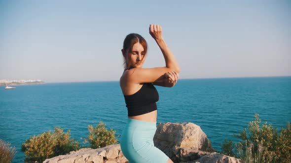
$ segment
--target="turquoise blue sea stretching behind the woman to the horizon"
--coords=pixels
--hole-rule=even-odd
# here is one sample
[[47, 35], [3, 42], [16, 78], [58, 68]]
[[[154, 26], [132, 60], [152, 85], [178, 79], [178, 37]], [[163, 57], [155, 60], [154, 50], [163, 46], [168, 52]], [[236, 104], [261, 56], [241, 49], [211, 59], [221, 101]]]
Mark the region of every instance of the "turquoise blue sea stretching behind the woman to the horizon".
[[[103, 121], [122, 133], [127, 110], [118, 81], [46, 83], [0, 89], [0, 139], [17, 149], [13, 163], [23, 162], [21, 143], [54, 126], [78, 141], [87, 126]], [[286, 128], [291, 121], [291, 77], [179, 80], [175, 87], [156, 86], [157, 122], [192, 122], [215, 149], [238, 134], [259, 113], [262, 121]], [[119, 138], [119, 137], [118, 137]]]

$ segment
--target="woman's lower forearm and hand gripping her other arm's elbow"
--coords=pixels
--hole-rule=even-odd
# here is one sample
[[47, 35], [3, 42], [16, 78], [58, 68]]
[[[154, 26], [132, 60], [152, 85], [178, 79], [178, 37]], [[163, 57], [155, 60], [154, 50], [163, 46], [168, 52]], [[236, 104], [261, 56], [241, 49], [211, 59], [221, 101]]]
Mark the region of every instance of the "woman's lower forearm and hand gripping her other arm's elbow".
[[165, 73], [160, 79], [153, 82], [154, 85], [164, 86], [164, 87], [173, 87], [179, 79], [179, 74], [174, 71]]

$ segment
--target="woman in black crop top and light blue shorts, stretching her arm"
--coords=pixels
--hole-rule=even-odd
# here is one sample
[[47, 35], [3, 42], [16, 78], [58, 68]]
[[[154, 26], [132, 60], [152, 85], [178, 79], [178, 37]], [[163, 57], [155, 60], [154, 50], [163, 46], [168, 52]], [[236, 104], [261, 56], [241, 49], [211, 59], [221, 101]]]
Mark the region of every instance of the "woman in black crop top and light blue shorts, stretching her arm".
[[160, 47], [166, 67], [142, 68], [146, 59], [146, 40], [139, 34], [126, 36], [123, 49], [125, 70], [120, 87], [128, 109], [127, 124], [120, 147], [129, 163], [173, 163], [153, 144], [159, 99], [153, 85], [172, 87], [178, 80], [179, 65], [162, 37], [162, 27], [150, 25], [149, 33]]

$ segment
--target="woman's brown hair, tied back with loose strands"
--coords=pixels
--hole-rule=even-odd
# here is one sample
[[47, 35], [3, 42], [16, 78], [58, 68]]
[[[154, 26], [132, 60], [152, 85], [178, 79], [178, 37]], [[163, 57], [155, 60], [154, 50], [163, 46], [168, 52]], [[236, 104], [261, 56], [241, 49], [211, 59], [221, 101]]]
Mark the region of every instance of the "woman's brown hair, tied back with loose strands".
[[[131, 51], [133, 48], [133, 45], [135, 43], [140, 43], [142, 44], [142, 46], [144, 47], [144, 51], [145, 54], [147, 52], [147, 43], [146, 40], [144, 39], [144, 37], [142, 37], [141, 35], [137, 34], [137, 33], [130, 33], [128, 34], [123, 42], [123, 65], [124, 65], [124, 69], [128, 69], [130, 68], [130, 63], [128, 65], [126, 65], [126, 55], [130, 54], [131, 57]], [[130, 61], [130, 60], [129, 60]]]

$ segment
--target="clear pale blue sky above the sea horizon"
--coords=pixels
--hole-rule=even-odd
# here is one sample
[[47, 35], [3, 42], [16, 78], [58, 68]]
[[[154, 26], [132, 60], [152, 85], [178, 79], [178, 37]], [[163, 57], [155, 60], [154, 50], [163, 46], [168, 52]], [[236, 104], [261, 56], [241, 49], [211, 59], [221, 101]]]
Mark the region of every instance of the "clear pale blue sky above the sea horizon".
[[149, 24], [180, 79], [291, 76], [290, 0], [0, 0], [0, 80], [118, 81], [129, 33], [165, 66]]

